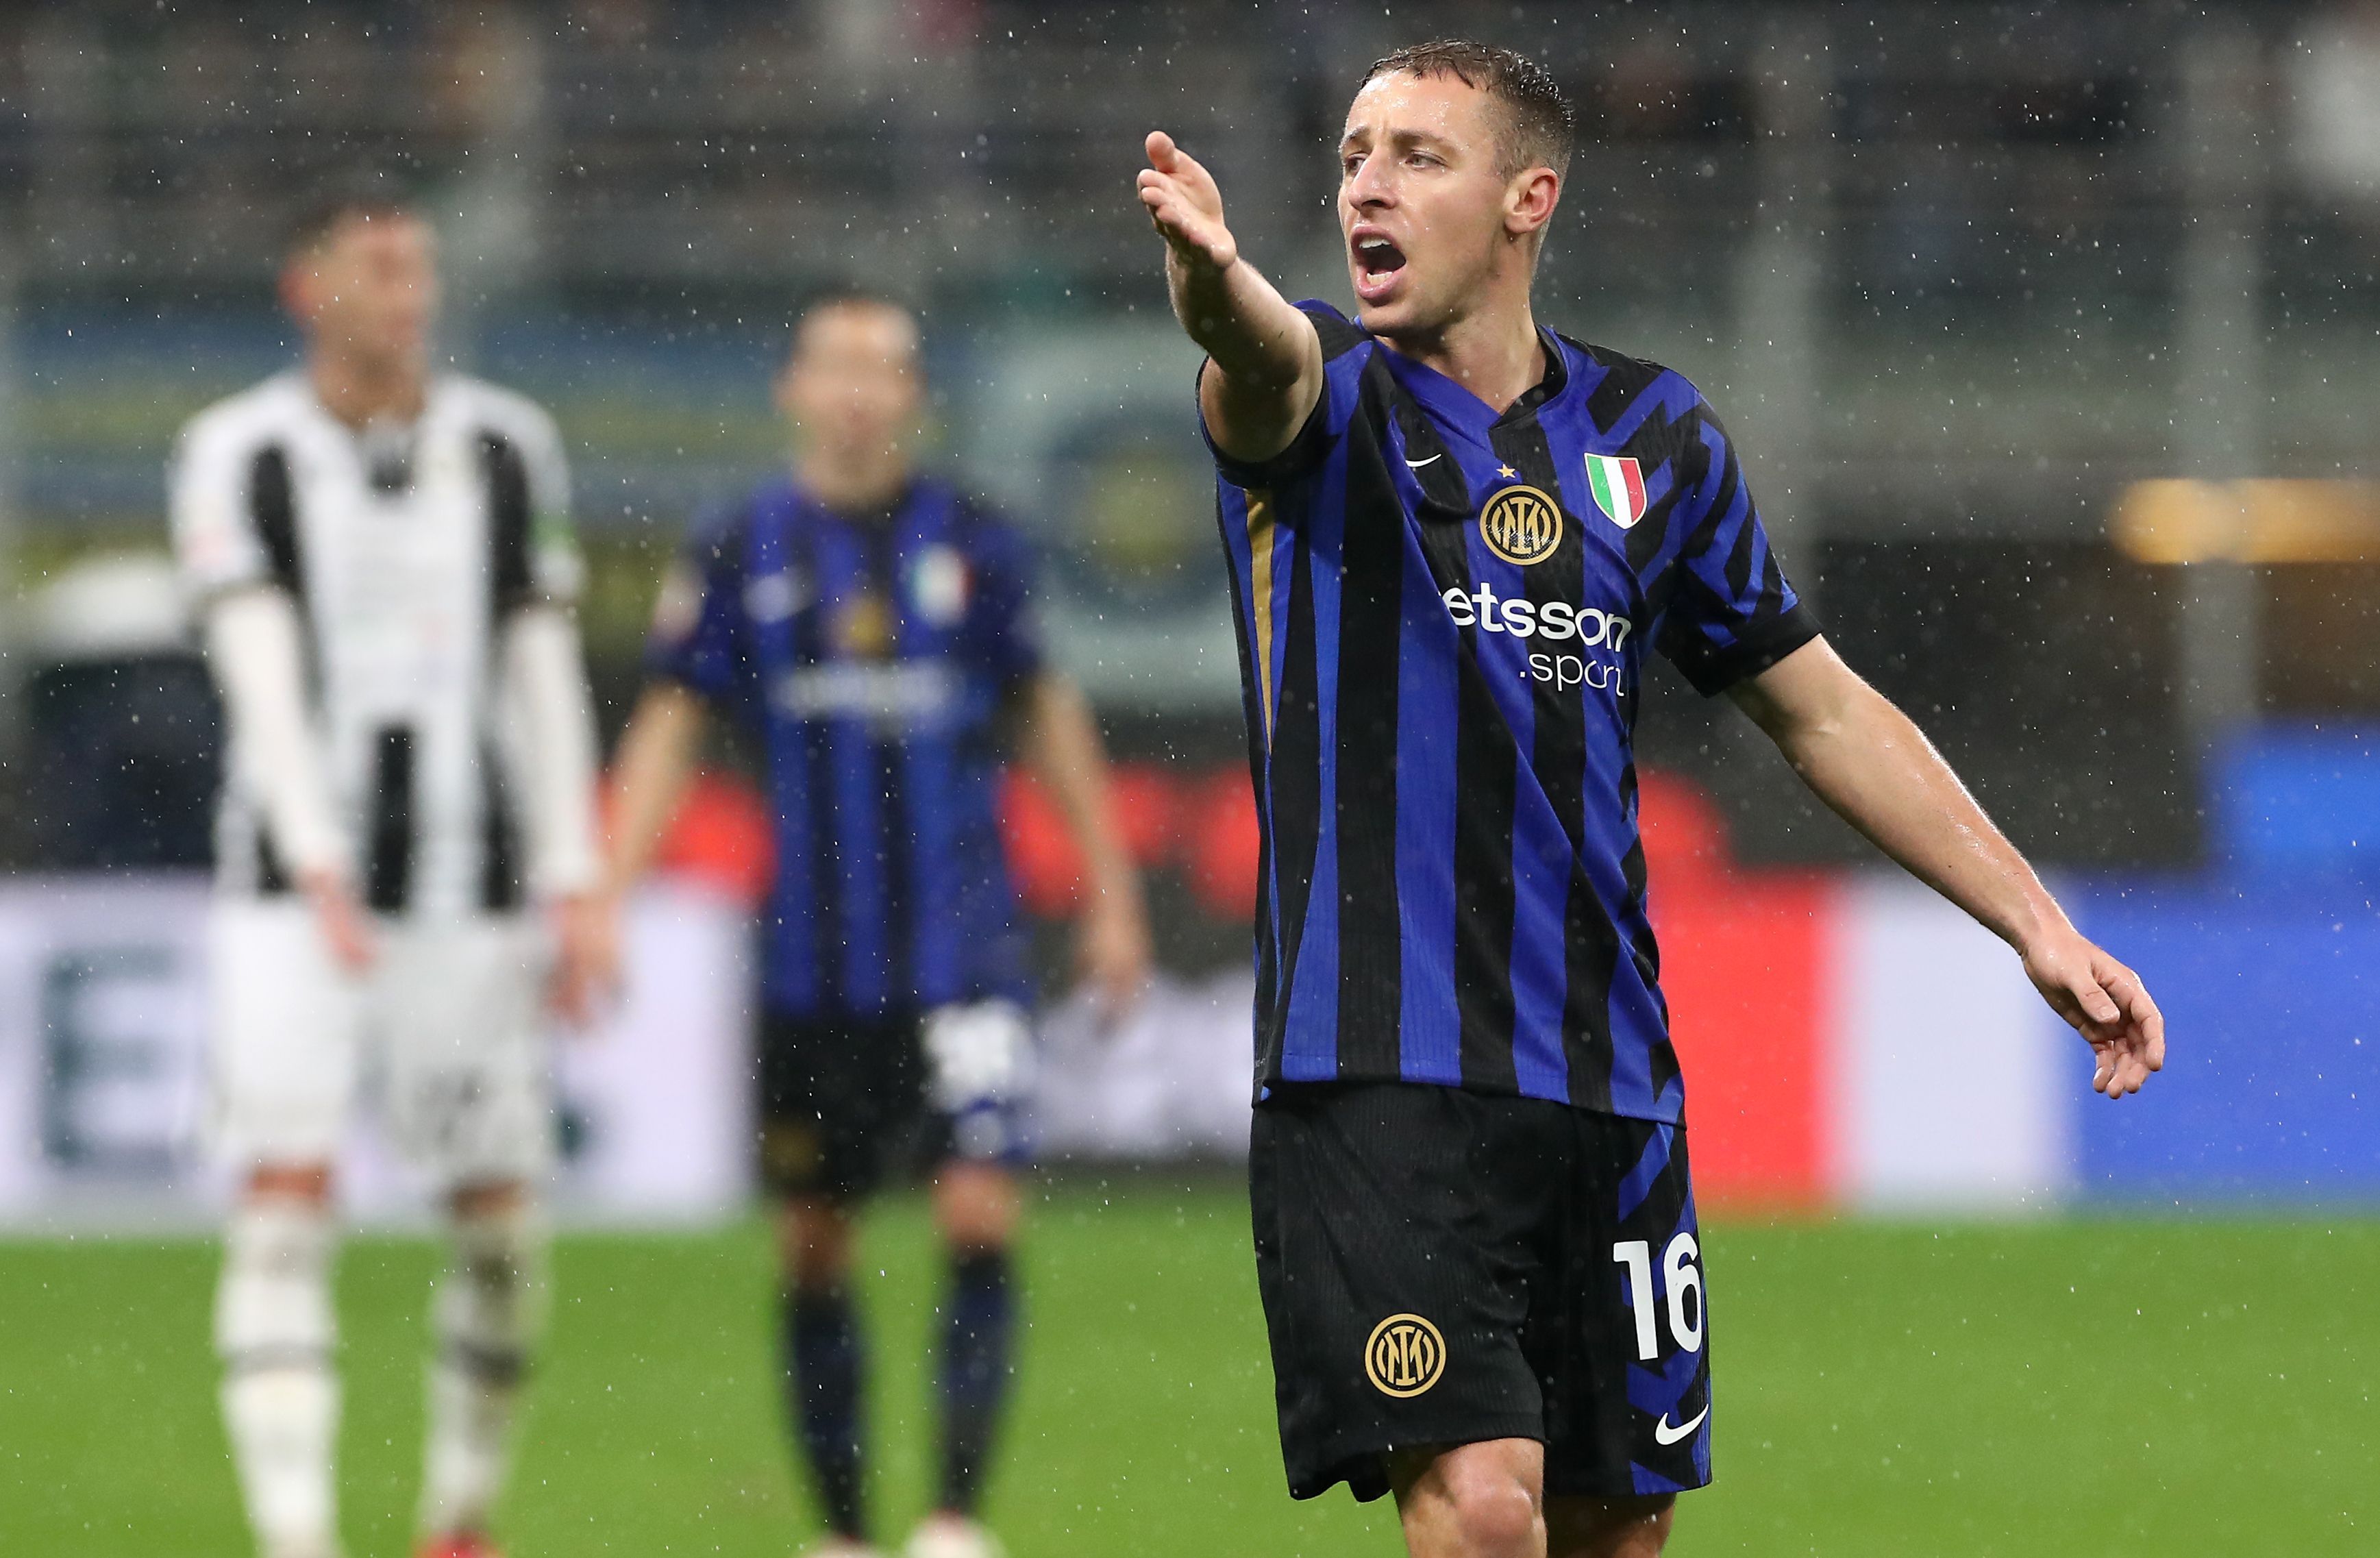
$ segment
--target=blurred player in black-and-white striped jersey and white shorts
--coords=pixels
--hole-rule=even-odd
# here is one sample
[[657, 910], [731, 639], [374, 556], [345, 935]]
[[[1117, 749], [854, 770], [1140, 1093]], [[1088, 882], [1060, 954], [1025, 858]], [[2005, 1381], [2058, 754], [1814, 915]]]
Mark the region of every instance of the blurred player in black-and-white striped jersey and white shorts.
[[336, 1553], [331, 1166], [376, 1075], [452, 1242], [421, 1551], [478, 1558], [545, 1313], [540, 985], [583, 1013], [597, 947], [578, 552], [547, 416], [428, 366], [419, 212], [321, 202], [281, 297], [302, 366], [195, 416], [171, 483], [231, 730], [209, 930], [212, 1125], [240, 1173], [224, 1422], [267, 1558]]

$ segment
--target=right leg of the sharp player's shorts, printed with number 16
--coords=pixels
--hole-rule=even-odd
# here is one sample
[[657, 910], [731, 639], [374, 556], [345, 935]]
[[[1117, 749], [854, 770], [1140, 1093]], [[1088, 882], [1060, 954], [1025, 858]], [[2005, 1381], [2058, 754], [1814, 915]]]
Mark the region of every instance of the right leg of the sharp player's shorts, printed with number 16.
[[1547, 1496], [1640, 1499], [1711, 1480], [1709, 1287], [1680, 1125], [1578, 1113], [1561, 1280], [1530, 1308], [1547, 1380]]

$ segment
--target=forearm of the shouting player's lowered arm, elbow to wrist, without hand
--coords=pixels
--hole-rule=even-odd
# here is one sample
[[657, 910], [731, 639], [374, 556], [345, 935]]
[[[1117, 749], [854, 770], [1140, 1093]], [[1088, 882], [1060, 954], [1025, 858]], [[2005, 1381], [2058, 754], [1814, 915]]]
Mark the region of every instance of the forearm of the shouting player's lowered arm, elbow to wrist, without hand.
[[1911, 875], [2018, 951], [2066, 913], [1916, 723], [1859, 683], [1825, 718], [1775, 733], [1795, 773]]

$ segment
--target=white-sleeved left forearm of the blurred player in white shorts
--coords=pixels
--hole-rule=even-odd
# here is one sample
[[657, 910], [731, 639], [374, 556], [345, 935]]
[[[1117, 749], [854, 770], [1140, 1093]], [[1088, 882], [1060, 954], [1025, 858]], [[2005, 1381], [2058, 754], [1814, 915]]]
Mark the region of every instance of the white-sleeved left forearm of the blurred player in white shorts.
[[207, 666], [283, 866], [298, 878], [345, 875], [347, 842], [305, 714], [298, 602], [274, 588], [226, 595], [207, 611], [205, 640]]

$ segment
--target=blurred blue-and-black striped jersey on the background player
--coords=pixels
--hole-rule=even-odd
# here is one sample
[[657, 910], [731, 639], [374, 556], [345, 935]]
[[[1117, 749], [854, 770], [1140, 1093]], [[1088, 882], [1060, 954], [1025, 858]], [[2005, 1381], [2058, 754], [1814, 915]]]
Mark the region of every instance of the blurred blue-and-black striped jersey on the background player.
[[1002, 702], [1042, 664], [1028, 573], [938, 480], [854, 519], [776, 478], [695, 528], [645, 664], [766, 752], [771, 1011], [1031, 994], [995, 792]]

